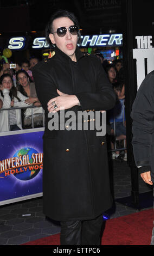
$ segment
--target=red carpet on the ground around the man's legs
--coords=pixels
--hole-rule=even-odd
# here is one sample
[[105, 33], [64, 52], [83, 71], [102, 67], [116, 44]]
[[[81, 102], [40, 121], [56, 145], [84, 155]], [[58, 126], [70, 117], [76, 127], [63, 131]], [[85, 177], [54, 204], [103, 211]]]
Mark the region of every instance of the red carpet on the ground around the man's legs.
[[[101, 245], [150, 245], [153, 209], [107, 220]], [[24, 245], [60, 245], [60, 234], [47, 236]]]

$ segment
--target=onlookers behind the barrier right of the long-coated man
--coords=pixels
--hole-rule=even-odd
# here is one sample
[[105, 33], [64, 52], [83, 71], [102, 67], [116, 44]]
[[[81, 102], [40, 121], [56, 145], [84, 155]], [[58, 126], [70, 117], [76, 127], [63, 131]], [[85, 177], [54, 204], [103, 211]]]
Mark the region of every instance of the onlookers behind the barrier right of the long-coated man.
[[[107, 111], [107, 136], [111, 148], [112, 159], [118, 161], [126, 161], [126, 120], [125, 120], [125, 85], [124, 85], [124, 69], [121, 59], [114, 60], [113, 64], [109, 64], [101, 53], [95, 54], [104, 67], [108, 80], [112, 83], [113, 89], [117, 94], [117, 102], [113, 109]], [[115, 150], [117, 148], [117, 150]], [[124, 150], [118, 150], [118, 148]]]

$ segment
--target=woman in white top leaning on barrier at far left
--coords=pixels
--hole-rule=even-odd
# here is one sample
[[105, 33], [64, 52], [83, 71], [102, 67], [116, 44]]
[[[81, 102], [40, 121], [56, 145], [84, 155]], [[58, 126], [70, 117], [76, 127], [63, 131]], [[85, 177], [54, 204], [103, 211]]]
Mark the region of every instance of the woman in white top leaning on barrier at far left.
[[0, 78], [0, 99], [3, 102], [2, 108], [10, 108], [8, 111], [0, 112], [0, 131], [11, 131], [22, 129], [21, 109], [11, 109], [11, 107], [27, 107], [25, 100], [28, 98], [18, 92], [14, 86], [12, 77], [4, 74]]

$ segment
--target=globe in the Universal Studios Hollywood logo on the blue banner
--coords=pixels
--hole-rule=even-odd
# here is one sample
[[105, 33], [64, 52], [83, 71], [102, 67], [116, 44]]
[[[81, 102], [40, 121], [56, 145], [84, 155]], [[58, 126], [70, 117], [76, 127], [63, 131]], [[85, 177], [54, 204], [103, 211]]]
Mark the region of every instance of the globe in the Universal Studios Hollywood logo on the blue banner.
[[39, 172], [40, 170], [42, 169], [42, 164], [33, 164], [34, 163], [34, 156], [39, 155], [39, 153], [33, 149], [33, 148], [22, 148], [20, 150], [18, 150], [15, 154], [14, 154], [14, 157], [17, 157], [18, 159], [20, 159], [20, 163], [23, 161], [23, 159], [28, 159], [28, 164], [21, 164], [20, 167], [16, 167], [15, 168], [15, 177], [17, 179], [20, 179], [20, 180], [31, 180], [33, 179]]

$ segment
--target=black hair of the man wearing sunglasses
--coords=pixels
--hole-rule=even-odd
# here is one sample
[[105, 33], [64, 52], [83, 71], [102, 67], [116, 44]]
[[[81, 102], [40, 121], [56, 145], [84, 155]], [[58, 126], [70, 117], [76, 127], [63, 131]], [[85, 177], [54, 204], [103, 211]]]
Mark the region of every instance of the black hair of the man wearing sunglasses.
[[[50, 17], [50, 20], [48, 21], [47, 26], [46, 26], [46, 40], [47, 40], [48, 44], [50, 45], [50, 47], [53, 47], [53, 44], [52, 44], [52, 42], [50, 41], [50, 38], [49, 38], [49, 34], [53, 32], [53, 28], [52, 28], [53, 21], [55, 19], [60, 18], [60, 17], [69, 18], [70, 20], [72, 20], [74, 22], [74, 25], [79, 28], [79, 22], [78, 22], [78, 20], [76, 19], [75, 15], [73, 13], [70, 13], [67, 10], [58, 10], [58, 11], [56, 11]], [[78, 32], [78, 43], [80, 43], [80, 40], [81, 40], [81, 33], [79, 31]]]

